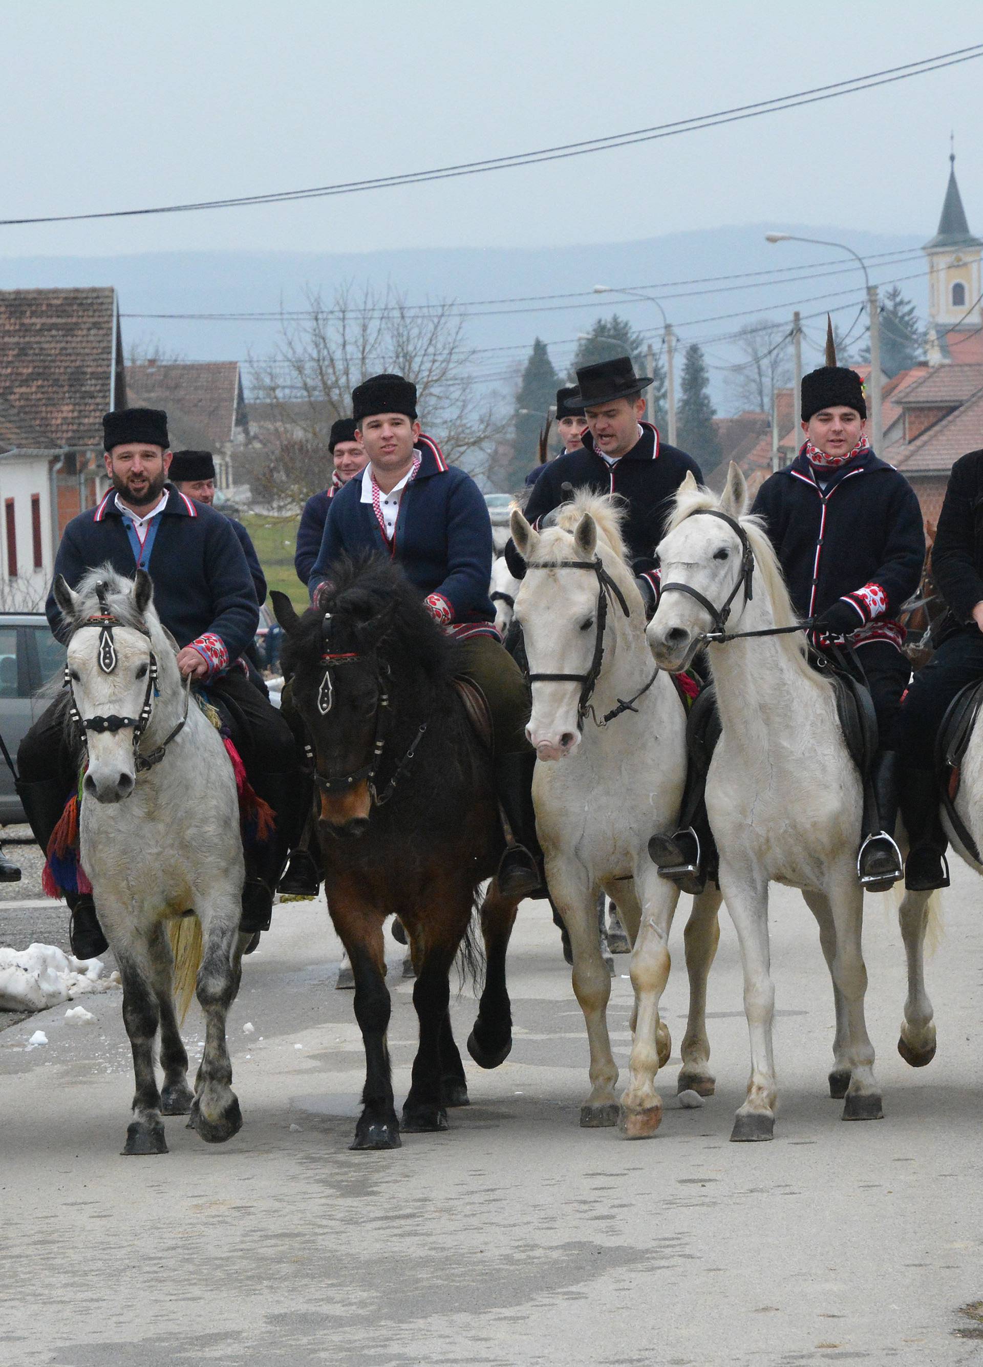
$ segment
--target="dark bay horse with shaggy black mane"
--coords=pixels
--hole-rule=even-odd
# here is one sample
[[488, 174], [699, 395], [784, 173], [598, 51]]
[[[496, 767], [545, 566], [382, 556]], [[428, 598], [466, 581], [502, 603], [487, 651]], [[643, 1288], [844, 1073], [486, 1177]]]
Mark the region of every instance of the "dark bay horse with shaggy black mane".
[[[399, 917], [417, 971], [420, 1047], [402, 1129], [447, 1129], [446, 1107], [468, 1105], [447, 1013], [450, 969], [462, 942], [469, 947], [479, 886], [503, 849], [492, 757], [454, 684], [455, 642], [390, 560], [340, 560], [325, 607], [304, 617], [286, 595], [272, 597], [317, 785], [324, 891], [351, 960], [365, 1043], [351, 1147], [398, 1148], [383, 923]], [[485, 986], [468, 1040], [483, 1068], [511, 1048], [504, 960], [515, 908], [492, 882], [481, 905]]]

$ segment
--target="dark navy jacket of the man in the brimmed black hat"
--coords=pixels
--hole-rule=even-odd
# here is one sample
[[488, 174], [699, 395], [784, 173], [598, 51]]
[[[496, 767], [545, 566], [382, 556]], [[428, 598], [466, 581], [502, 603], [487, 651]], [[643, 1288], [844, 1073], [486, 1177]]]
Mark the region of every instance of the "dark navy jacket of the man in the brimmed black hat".
[[[574, 491], [591, 488], [596, 493], [621, 493], [628, 502], [621, 532], [636, 574], [655, 566], [655, 547], [662, 540], [673, 511], [673, 498], [686, 474], [692, 472], [696, 483], [703, 484], [703, 473], [696, 461], [685, 451], [660, 442], [651, 422], [641, 424], [638, 442], [622, 455], [614, 469], [593, 450], [589, 432], [584, 433], [580, 451], [558, 455], [541, 469], [525, 506], [528, 521], [536, 525], [566, 500], [563, 484], [571, 484]], [[510, 541], [506, 559], [514, 554], [515, 547]], [[511, 562], [509, 567], [515, 574]]]

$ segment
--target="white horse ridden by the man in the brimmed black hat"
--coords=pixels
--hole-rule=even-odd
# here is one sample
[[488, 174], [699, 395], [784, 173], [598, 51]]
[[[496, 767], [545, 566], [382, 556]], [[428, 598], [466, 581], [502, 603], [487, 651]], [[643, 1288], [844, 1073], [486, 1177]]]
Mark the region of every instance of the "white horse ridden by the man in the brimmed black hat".
[[[570, 932], [573, 988], [591, 1044], [591, 1094], [580, 1122], [618, 1122], [626, 1136], [644, 1137], [662, 1118], [655, 1073], [671, 1046], [659, 1001], [679, 897], [654, 868], [648, 839], [673, 830], [678, 816], [686, 714], [670, 677], [652, 668], [614, 502], [580, 493], [541, 533], [515, 510], [511, 533], [528, 566], [515, 618], [530, 668], [526, 734], [541, 761], [533, 778], [536, 827], [550, 891]], [[634, 1033], [621, 1107], [607, 1033], [611, 979], [597, 934], [602, 889], [617, 898], [634, 946]], [[703, 1096], [714, 1091], [705, 984], [719, 905], [716, 891], [696, 898], [685, 936], [690, 999], [678, 1089]]]

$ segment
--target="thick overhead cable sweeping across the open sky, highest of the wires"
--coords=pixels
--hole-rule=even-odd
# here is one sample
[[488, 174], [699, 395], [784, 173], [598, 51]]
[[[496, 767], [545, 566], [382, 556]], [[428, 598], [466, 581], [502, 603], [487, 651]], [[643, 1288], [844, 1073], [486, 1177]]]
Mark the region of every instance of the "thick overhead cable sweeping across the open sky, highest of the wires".
[[533, 152], [517, 152], [503, 157], [487, 157], [477, 161], [459, 161], [453, 165], [435, 167], [428, 171], [401, 172], [390, 176], [373, 176], [368, 180], [345, 180], [336, 185], [312, 186], [305, 190], [278, 190], [267, 194], [245, 194], [228, 198], [198, 200], [187, 204], [156, 205], [144, 209], [104, 209], [94, 213], [57, 213], [36, 217], [0, 219], [0, 227], [22, 227], [40, 223], [82, 223], [94, 219], [131, 219], [145, 217], [157, 213], [191, 213], [202, 209], [234, 209], [256, 204], [288, 204], [298, 200], [319, 200], [334, 195], [360, 194], [366, 190], [388, 190], [409, 185], [427, 185], [433, 180], [450, 180], [459, 176], [481, 175], [488, 171], [509, 171], [515, 167], [539, 165], [544, 161], [562, 161], [569, 157], [581, 157], [597, 152], [610, 152], [615, 148], [634, 146], [640, 142], [655, 142], [662, 138], [679, 137], [684, 133], [699, 133], [704, 128], [716, 128], [727, 123], [741, 123], [746, 119], [759, 119], [768, 113], [781, 113], [783, 109], [797, 109], [809, 104], [819, 104], [824, 100], [835, 100], [841, 96], [856, 94], [861, 90], [872, 90], [878, 86], [893, 85], [898, 81], [909, 81], [913, 77], [927, 75], [932, 71], [942, 71], [946, 67], [958, 66], [964, 62], [975, 62], [983, 56], [983, 44], [957, 48], [952, 52], [942, 52], [921, 62], [909, 62], [900, 67], [886, 67], [882, 71], [871, 71], [863, 77], [853, 77], [848, 81], [837, 81], [831, 85], [813, 86], [809, 90], [798, 90], [787, 96], [777, 96], [772, 100], [759, 100], [753, 104], [736, 105], [730, 109], [719, 109], [715, 113], [697, 115], [690, 119], [678, 119], [673, 123], [654, 124], [648, 128], [634, 128], [629, 133], [610, 134], [603, 138], [588, 138], [582, 142], [566, 142], [552, 148], [539, 148]]

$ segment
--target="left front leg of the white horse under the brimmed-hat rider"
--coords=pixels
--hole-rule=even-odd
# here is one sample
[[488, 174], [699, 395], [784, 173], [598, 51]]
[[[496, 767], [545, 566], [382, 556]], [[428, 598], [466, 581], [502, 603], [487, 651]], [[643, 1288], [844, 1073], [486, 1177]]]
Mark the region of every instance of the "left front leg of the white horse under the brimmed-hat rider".
[[[582, 876], [578, 876], [582, 875]], [[611, 973], [600, 953], [597, 934], [597, 890], [587, 872], [573, 863], [547, 857], [547, 883], [570, 936], [573, 991], [584, 1012], [591, 1046], [591, 1095], [580, 1109], [580, 1122], [588, 1129], [615, 1125], [618, 1068], [607, 1033], [607, 1003]]]

